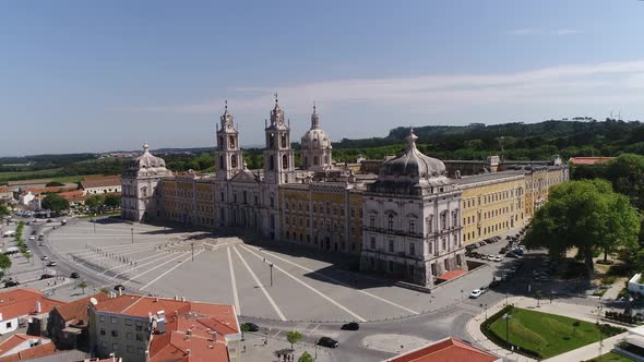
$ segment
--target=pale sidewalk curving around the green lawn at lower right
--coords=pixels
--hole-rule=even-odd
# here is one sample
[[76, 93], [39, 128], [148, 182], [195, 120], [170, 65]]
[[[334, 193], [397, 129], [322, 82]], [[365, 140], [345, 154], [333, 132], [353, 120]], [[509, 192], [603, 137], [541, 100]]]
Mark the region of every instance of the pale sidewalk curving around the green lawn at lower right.
[[[537, 311], [544, 312], [544, 313], [565, 315], [565, 316], [569, 316], [572, 318], [577, 318], [577, 319], [586, 321], [586, 322], [591, 322], [591, 323], [597, 322], [597, 310], [595, 306], [592, 306], [592, 305], [570, 304], [570, 303], [561, 303], [561, 302], [557, 302], [557, 301], [550, 302], [548, 300], [542, 300], [539, 303], [540, 306], [537, 307], [537, 301], [534, 298], [527, 298], [527, 297], [510, 298], [508, 300], [508, 303], [514, 304], [514, 306], [517, 306], [517, 307], [537, 310]], [[488, 307], [487, 316], [489, 317], [489, 316], [493, 315], [494, 313], [502, 310], [503, 306], [505, 306], [505, 300], [501, 301], [500, 303], [497, 303], [496, 305]], [[467, 333], [485, 350], [487, 350], [491, 353], [494, 353], [499, 357], [502, 357], [509, 361], [521, 361], [521, 362], [536, 361], [536, 360], [530, 359], [528, 357], [505, 350], [505, 349], [494, 345], [492, 341], [490, 341], [480, 331], [480, 324], [485, 319], [486, 319], [486, 312], [481, 311], [475, 317], [469, 319], [469, 322], [467, 322]], [[601, 323], [606, 323], [606, 322], [601, 322]], [[613, 336], [611, 338], [606, 339], [604, 341], [603, 350], [605, 352], [610, 351], [612, 346], [615, 346], [615, 343], [623, 337], [624, 337], [624, 335], [619, 335], [619, 336]], [[615, 341], [613, 341], [613, 339], [615, 339]], [[596, 342], [596, 343], [584, 346], [582, 348], [572, 350], [570, 352], [557, 355], [557, 357], [553, 357], [553, 358], [549, 359], [548, 361], [567, 361], [568, 362], [568, 361], [589, 360], [589, 359], [597, 357], [598, 350], [599, 350], [599, 342]], [[563, 355], [568, 355], [568, 357], [565, 359], [563, 359]], [[559, 360], [559, 358], [562, 358], [562, 359]]]

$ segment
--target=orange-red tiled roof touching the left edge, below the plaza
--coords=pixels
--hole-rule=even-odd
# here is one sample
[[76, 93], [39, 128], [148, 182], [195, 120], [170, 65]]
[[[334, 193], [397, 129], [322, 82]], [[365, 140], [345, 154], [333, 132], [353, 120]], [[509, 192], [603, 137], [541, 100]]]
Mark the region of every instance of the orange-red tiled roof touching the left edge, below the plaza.
[[36, 301], [40, 302], [40, 313], [48, 313], [56, 305], [64, 304], [64, 302], [45, 298], [43, 292], [29, 288], [0, 292], [0, 313], [2, 313], [0, 319], [7, 321], [21, 315], [38, 314]]

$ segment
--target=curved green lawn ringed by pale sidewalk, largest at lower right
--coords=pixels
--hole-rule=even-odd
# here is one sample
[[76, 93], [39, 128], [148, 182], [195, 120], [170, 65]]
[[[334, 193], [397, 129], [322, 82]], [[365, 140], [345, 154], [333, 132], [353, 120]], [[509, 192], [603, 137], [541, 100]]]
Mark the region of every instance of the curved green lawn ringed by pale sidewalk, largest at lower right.
[[[593, 323], [515, 307], [511, 312], [509, 341], [513, 346], [550, 358], [599, 340]], [[575, 327], [573, 324], [579, 322]], [[490, 325], [499, 338], [505, 340], [505, 319], [499, 317]]]

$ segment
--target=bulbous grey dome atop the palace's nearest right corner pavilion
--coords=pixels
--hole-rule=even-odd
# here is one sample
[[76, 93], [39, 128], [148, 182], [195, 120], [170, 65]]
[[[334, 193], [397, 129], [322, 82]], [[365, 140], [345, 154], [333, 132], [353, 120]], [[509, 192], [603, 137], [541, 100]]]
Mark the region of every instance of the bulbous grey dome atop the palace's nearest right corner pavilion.
[[399, 157], [385, 161], [380, 173], [384, 176], [405, 176], [412, 178], [438, 178], [445, 176], [445, 164], [438, 158], [429, 157], [416, 148], [418, 137], [410, 131], [407, 136], [407, 150]]

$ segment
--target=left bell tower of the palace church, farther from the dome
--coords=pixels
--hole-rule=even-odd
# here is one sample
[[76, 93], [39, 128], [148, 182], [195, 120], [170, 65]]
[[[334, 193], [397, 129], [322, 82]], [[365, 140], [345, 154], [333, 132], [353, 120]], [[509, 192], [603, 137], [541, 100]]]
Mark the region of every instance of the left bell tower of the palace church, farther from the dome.
[[224, 102], [224, 114], [219, 119], [215, 169], [217, 170], [217, 179], [230, 180], [241, 170], [243, 160], [239, 148], [239, 132], [232, 122], [232, 114], [228, 112], [228, 101]]

